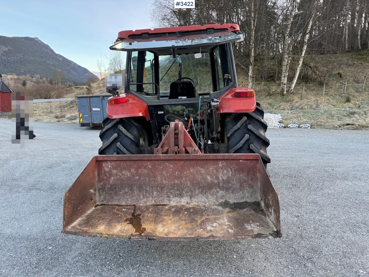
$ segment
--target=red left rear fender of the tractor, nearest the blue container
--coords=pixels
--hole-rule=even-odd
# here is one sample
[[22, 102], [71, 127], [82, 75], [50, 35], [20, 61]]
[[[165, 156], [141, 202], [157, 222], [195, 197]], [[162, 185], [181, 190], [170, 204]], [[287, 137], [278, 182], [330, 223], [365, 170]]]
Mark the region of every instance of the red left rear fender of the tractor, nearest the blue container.
[[[114, 99], [125, 98], [124, 103], [110, 104]], [[110, 100], [110, 101], [109, 101]], [[123, 102], [123, 101], [122, 101]], [[150, 120], [149, 108], [147, 104], [133, 94], [121, 94], [120, 96], [111, 96], [108, 99], [108, 106], [106, 109], [109, 118], [123, 118], [144, 116], [146, 120]]]

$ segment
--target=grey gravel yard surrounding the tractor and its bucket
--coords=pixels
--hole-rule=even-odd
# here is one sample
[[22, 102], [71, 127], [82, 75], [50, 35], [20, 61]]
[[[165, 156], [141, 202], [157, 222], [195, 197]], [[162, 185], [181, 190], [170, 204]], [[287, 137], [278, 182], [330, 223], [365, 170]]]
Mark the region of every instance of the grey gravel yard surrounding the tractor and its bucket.
[[62, 235], [62, 198], [99, 131], [0, 119], [0, 276], [369, 276], [369, 131], [270, 129], [282, 238], [147, 241]]

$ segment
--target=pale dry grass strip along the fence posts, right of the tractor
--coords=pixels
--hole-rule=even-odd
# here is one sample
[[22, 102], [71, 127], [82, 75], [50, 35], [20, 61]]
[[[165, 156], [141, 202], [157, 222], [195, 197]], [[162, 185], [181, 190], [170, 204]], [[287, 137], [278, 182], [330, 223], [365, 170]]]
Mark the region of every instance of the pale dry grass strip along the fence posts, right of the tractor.
[[[337, 77], [338, 78], [338, 77]], [[348, 86], [346, 94], [343, 87], [305, 84], [301, 100], [301, 86], [287, 96], [279, 94], [275, 82], [255, 84], [256, 99], [266, 113], [280, 114], [284, 126], [292, 123], [310, 124], [320, 129], [367, 129], [369, 128], [369, 85]]]

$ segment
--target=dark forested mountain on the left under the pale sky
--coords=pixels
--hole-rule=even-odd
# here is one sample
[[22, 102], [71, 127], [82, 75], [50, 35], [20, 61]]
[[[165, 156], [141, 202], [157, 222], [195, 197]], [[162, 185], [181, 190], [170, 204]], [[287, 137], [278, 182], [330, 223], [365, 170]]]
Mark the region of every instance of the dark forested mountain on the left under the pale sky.
[[[0, 73], [6, 75], [41, 75], [54, 78], [55, 70], [63, 72], [64, 80], [84, 83], [96, 77], [87, 68], [56, 54], [38, 38], [0, 35]], [[98, 79], [98, 78], [96, 78]]]

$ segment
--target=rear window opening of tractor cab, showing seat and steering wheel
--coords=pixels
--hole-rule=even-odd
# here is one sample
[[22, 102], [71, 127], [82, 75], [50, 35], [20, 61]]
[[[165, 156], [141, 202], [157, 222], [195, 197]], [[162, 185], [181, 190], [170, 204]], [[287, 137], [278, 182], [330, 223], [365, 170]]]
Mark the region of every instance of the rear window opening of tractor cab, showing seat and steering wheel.
[[179, 52], [174, 58], [169, 51], [133, 51], [127, 70], [129, 88], [147, 99], [156, 99], [158, 94], [160, 99], [209, 96], [231, 83], [225, 78], [230, 72], [228, 57], [221, 57], [220, 48], [208, 48], [208, 52], [187, 48], [196, 53]]

